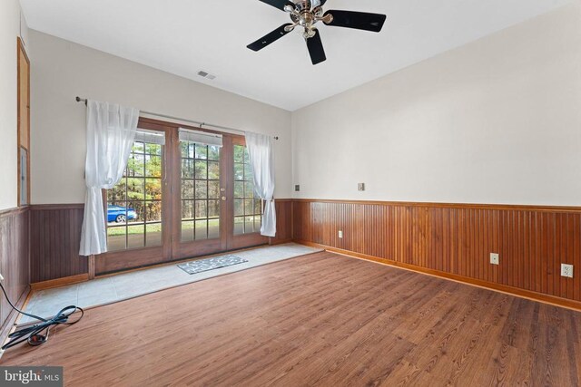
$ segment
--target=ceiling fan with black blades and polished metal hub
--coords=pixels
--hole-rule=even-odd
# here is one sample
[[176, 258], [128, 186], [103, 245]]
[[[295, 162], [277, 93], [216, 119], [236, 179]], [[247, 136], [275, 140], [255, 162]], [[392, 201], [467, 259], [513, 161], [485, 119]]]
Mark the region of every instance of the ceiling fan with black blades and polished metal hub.
[[302, 33], [310, 53], [310, 60], [318, 64], [327, 60], [323, 44], [320, 41], [319, 30], [315, 24], [324, 24], [335, 27], [355, 28], [358, 30], [379, 33], [385, 23], [386, 15], [369, 14], [365, 12], [329, 10], [323, 12], [322, 6], [327, 0], [260, 0], [262, 3], [272, 5], [281, 11], [291, 14], [292, 23], [282, 24], [270, 34], [262, 36], [256, 42], [247, 47], [252, 51], [260, 51], [267, 45], [289, 34], [295, 27], [304, 28]]

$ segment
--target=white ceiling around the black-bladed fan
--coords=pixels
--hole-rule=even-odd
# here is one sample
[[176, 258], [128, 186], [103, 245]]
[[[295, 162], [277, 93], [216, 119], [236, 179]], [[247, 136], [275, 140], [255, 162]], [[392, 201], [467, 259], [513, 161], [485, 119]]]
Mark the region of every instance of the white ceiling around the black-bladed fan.
[[321, 26], [327, 62], [317, 66], [298, 30], [259, 53], [246, 48], [290, 21], [259, 0], [20, 2], [34, 30], [294, 111], [569, 0], [329, 0], [325, 9], [388, 20], [380, 34]]

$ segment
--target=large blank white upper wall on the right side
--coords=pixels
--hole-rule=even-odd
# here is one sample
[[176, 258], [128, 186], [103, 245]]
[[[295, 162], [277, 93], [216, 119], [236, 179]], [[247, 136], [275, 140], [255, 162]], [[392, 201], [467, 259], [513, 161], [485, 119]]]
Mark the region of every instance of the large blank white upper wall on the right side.
[[292, 131], [296, 198], [579, 206], [581, 5], [295, 111]]

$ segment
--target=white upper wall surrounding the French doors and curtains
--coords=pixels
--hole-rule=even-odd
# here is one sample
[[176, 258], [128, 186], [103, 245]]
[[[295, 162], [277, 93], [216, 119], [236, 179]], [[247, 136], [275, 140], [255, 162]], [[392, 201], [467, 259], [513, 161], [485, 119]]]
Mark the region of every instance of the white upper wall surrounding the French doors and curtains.
[[276, 134], [277, 198], [291, 197], [291, 113], [36, 31], [32, 46], [33, 204], [84, 202], [85, 108], [74, 97]]

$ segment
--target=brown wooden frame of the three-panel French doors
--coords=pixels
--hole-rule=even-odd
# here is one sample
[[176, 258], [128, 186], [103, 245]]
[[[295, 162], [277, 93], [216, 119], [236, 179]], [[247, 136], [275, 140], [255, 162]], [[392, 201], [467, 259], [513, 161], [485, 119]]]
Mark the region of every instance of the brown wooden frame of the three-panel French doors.
[[[95, 256], [95, 275], [104, 275], [143, 266], [152, 266], [185, 258], [207, 256], [216, 253], [225, 253], [245, 247], [268, 245], [269, 238], [260, 233], [234, 236], [234, 179], [233, 179], [233, 146], [245, 145], [244, 136], [212, 131], [205, 128], [185, 125], [177, 122], [168, 122], [140, 117], [138, 128], [165, 133], [165, 149], [163, 151], [162, 180], [162, 246], [139, 247], [114, 251]], [[220, 207], [220, 238], [204, 239], [192, 242], [181, 242], [182, 223], [182, 153], [180, 151], [179, 129], [204, 131], [222, 136], [222, 150], [220, 160], [221, 188], [225, 189]], [[106, 191], [103, 189], [103, 206], [106, 224]]]

